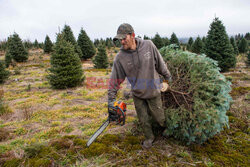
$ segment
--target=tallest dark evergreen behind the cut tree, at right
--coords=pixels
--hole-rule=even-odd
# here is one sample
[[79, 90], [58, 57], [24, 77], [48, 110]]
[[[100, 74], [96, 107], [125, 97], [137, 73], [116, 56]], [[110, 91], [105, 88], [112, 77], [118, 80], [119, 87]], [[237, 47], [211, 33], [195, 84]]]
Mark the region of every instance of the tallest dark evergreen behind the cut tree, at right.
[[230, 44], [226, 29], [219, 18], [215, 18], [210, 25], [210, 30], [205, 43], [205, 53], [216, 60], [222, 71], [235, 67], [236, 56]]

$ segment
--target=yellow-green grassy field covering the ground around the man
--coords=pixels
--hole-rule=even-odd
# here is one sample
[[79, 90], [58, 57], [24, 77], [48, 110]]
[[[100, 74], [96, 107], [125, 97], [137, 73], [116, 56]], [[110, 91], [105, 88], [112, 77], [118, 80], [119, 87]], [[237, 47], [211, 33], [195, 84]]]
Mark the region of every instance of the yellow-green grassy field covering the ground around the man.
[[233, 83], [230, 128], [203, 145], [185, 146], [159, 136], [149, 150], [141, 148], [144, 137], [133, 100], [123, 98], [126, 83], [118, 94], [128, 105], [126, 125], [109, 126], [85, 146], [107, 118], [107, 89], [88, 79], [105, 83], [110, 70], [93, 70], [90, 61], [83, 62], [82, 86], [53, 90], [46, 79], [50, 55], [42, 50], [29, 55], [27, 62], [9, 69], [12, 75], [1, 85], [0, 166], [250, 166], [250, 69], [244, 55], [225, 73]]

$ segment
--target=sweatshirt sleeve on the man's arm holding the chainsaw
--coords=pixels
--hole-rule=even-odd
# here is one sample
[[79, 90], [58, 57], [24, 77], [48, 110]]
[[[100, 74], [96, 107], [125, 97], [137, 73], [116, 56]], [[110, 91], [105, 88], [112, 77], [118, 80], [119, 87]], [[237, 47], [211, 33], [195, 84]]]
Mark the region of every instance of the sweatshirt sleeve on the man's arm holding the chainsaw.
[[125, 80], [125, 77], [126, 77], [126, 74], [117, 56], [115, 58], [115, 61], [112, 67], [111, 76], [109, 79], [108, 102], [112, 102], [116, 99], [116, 94], [120, 88], [120, 84]]

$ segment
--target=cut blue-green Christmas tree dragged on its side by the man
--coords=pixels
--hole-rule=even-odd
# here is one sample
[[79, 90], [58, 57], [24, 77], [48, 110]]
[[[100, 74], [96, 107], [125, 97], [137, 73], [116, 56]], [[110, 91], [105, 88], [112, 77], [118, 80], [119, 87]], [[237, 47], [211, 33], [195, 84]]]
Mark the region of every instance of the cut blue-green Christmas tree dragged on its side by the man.
[[217, 62], [204, 54], [170, 47], [160, 52], [173, 77], [171, 90], [163, 94], [165, 135], [187, 144], [203, 143], [228, 125], [231, 83], [220, 74]]

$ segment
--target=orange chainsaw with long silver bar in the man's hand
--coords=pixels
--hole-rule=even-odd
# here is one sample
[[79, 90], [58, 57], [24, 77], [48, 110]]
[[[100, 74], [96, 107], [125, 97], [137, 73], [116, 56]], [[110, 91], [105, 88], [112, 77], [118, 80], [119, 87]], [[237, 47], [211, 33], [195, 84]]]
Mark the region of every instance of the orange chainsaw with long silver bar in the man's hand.
[[[126, 119], [126, 109], [127, 109], [126, 104], [123, 101], [118, 101], [118, 102], [116, 101], [114, 102], [113, 106], [109, 106], [109, 109], [111, 109], [113, 113], [117, 114], [118, 119], [116, 121], [116, 124], [117, 125], [120, 124], [121, 126], [123, 126], [125, 124], [125, 119]], [[107, 128], [110, 122], [111, 120], [108, 117], [108, 119], [90, 137], [90, 139], [87, 142], [87, 147], [89, 147], [95, 141], [95, 139]]]

